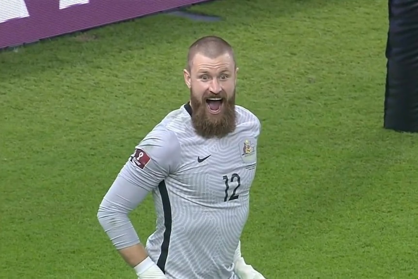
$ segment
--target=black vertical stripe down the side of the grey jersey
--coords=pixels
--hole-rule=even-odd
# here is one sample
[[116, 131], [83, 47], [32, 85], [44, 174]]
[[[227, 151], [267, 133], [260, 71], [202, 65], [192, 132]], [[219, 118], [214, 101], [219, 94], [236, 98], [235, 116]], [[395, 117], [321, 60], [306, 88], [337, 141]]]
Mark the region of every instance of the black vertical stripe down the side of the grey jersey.
[[157, 265], [160, 267], [161, 271], [165, 273], [165, 262], [167, 261], [168, 256], [168, 246], [170, 245], [170, 236], [171, 236], [171, 204], [170, 199], [168, 198], [167, 187], [165, 181], [161, 181], [158, 185], [158, 189], [161, 194], [162, 209], [164, 211], [164, 238], [161, 244], [161, 254], [158, 258]]

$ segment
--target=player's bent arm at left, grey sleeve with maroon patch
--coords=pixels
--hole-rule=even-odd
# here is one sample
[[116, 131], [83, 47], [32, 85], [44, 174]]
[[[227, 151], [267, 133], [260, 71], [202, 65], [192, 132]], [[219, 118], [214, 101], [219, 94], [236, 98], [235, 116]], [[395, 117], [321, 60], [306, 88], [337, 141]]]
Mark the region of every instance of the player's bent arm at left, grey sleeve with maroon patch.
[[155, 128], [136, 147], [100, 203], [100, 225], [137, 274], [155, 263], [149, 259], [128, 215], [177, 167], [178, 153], [176, 135]]

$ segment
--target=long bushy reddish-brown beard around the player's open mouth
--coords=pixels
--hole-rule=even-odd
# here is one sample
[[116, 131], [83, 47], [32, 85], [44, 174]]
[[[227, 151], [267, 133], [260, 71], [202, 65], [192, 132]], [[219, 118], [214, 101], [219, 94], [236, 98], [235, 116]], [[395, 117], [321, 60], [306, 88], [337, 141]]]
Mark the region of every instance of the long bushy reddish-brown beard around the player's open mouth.
[[[206, 99], [213, 97], [222, 98], [222, 111], [217, 115], [211, 115], [206, 104]], [[235, 90], [231, 98], [228, 98], [225, 91], [222, 91], [216, 96], [205, 92], [199, 99], [190, 89], [190, 103], [193, 108], [192, 123], [198, 135], [204, 138], [222, 138], [235, 130]]]

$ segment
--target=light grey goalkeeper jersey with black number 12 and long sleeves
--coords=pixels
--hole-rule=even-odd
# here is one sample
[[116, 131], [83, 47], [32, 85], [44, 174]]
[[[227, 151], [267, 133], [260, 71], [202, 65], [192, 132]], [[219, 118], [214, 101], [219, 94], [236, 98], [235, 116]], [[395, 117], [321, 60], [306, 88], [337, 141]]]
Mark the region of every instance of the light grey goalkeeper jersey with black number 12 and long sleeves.
[[146, 242], [168, 279], [236, 279], [233, 257], [249, 212], [258, 118], [236, 106], [236, 130], [205, 139], [189, 104], [170, 112], [136, 146], [97, 217], [117, 249], [139, 243], [128, 213], [151, 192], [157, 213]]

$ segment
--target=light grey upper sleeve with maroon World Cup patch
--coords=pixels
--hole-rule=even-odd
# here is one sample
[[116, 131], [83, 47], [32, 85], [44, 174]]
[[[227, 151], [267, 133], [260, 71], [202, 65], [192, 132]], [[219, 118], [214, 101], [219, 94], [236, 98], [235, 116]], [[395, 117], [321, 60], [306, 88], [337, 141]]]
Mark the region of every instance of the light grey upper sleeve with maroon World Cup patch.
[[177, 135], [157, 126], [135, 147], [119, 176], [135, 186], [152, 191], [176, 171], [179, 154]]

